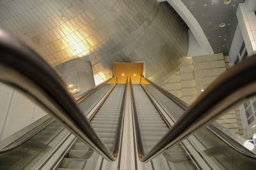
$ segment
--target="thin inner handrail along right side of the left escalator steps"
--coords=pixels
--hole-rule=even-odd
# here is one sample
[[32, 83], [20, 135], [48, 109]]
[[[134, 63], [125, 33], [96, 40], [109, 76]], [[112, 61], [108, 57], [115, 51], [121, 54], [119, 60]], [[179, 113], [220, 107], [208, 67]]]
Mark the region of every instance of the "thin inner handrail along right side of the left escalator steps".
[[116, 158], [119, 153], [120, 149], [120, 141], [122, 138], [122, 130], [123, 130], [123, 123], [124, 123], [124, 112], [125, 112], [125, 99], [126, 99], [126, 93], [127, 93], [127, 84], [128, 84], [128, 77], [125, 81], [125, 90], [124, 90], [124, 95], [122, 98], [122, 107], [120, 109], [120, 116], [118, 118], [118, 124], [117, 124], [117, 132], [116, 132], [116, 139], [115, 139], [115, 144], [114, 144], [114, 149], [113, 149], [113, 155]]

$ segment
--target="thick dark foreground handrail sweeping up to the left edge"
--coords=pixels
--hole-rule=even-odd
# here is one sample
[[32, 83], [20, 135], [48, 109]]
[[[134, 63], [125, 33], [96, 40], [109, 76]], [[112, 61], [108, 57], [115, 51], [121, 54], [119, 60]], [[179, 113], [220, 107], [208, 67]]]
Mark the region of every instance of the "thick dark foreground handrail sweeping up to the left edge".
[[0, 81], [22, 91], [81, 141], [109, 161], [116, 160], [70, 97], [58, 74], [36, 52], [0, 29]]

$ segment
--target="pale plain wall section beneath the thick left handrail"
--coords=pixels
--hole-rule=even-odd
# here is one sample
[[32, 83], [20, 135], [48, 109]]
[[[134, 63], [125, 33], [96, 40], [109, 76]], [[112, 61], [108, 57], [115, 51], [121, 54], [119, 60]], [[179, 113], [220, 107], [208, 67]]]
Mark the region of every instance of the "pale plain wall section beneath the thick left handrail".
[[0, 141], [45, 116], [19, 91], [0, 84]]

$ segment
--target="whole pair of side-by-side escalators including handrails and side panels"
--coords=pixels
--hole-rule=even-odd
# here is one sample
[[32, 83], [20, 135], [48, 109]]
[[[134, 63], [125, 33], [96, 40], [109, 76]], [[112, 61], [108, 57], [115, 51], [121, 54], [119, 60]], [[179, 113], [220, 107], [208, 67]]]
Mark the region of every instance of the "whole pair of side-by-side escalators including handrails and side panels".
[[[123, 164], [127, 151], [122, 146], [130, 143], [135, 169], [148, 162], [147, 169], [255, 167], [255, 151], [212, 123], [223, 111], [256, 94], [255, 59], [228, 70], [189, 107], [143, 77], [147, 83], [132, 84], [129, 93], [131, 81], [126, 85], [108, 81], [75, 101], [38, 54], [3, 35], [0, 81], [23, 91], [52, 118], [0, 148], [1, 169], [108, 169], [111, 162], [120, 167], [116, 164]], [[130, 103], [125, 103], [126, 95]], [[124, 114], [132, 115], [133, 127], [124, 129]], [[123, 132], [129, 141], [122, 143]]]

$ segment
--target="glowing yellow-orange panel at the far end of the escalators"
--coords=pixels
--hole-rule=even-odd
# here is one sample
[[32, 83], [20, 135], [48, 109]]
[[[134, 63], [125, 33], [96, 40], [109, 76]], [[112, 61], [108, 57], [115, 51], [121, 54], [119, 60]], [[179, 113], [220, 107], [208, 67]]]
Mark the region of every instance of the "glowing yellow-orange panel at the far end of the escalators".
[[113, 67], [118, 84], [124, 84], [127, 77], [131, 77], [132, 84], [140, 84], [143, 63], [114, 63]]

